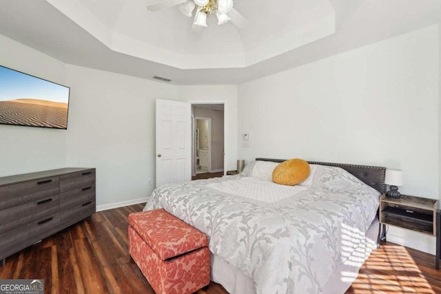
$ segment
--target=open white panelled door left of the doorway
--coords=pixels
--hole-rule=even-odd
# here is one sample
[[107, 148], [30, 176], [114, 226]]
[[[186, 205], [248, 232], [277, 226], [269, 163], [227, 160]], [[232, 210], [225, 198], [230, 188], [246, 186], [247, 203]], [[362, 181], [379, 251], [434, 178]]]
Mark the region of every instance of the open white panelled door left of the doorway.
[[192, 179], [191, 104], [156, 100], [156, 187]]

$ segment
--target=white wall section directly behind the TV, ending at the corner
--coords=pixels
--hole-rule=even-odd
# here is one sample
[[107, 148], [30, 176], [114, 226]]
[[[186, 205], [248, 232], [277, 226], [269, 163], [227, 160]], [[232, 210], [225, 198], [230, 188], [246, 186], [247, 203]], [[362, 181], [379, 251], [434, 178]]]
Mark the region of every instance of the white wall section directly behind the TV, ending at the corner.
[[[0, 65], [65, 85], [65, 65], [0, 35]], [[0, 125], [0, 176], [63, 167], [66, 130]]]

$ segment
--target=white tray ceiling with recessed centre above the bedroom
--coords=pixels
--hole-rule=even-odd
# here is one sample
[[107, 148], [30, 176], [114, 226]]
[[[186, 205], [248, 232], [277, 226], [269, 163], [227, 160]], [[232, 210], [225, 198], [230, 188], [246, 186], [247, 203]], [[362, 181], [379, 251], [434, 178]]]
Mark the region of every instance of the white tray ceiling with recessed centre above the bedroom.
[[433, 23], [441, 0], [236, 0], [246, 28], [192, 32], [148, 0], [0, 0], [0, 34], [63, 62], [176, 84], [238, 84]]

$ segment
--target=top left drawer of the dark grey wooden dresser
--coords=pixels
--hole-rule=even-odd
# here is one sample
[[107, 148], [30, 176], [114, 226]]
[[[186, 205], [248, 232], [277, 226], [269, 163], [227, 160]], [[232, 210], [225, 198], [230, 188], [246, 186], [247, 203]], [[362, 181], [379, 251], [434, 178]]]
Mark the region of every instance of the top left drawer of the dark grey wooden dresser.
[[0, 210], [59, 193], [59, 177], [41, 178], [0, 187]]

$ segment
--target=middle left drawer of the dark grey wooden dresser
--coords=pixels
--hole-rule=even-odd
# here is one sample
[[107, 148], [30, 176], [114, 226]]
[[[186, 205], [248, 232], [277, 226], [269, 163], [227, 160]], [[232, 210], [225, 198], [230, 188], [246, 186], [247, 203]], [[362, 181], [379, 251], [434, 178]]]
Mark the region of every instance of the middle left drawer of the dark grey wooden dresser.
[[0, 211], [0, 234], [51, 216], [59, 211], [59, 205], [59, 196], [54, 195], [3, 209]]

